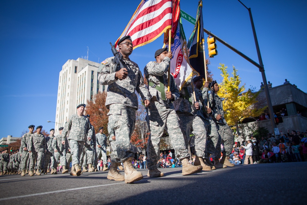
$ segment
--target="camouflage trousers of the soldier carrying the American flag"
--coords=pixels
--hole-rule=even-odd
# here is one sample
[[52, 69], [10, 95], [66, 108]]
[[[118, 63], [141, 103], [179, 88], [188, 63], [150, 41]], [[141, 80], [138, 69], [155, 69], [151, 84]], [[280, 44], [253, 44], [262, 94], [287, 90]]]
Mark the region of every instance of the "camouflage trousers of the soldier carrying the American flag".
[[157, 168], [157, 161], [160, 159], [160, 140], [164, 129], [168, 132], [171, 144], [175, 149], [175, 157], [180, 160], [190, 157], [185, 146], [185, 139], [179, 127], [178, 116], [173, 108], [167, 108], [157, 101], [151, 101], [149, 108], [147, 108], [146, 117], [150, 131], [147, 143], [148, 169], [153, 170]]

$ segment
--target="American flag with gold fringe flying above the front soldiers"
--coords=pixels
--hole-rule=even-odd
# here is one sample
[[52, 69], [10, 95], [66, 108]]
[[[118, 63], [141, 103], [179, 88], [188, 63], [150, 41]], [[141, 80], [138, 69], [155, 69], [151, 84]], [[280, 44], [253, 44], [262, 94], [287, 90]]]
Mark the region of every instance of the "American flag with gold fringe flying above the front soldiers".
[[142, 0], [122, 35], [129, 35], [137, 48], [161, 36], [172, 27], [172, 0]]

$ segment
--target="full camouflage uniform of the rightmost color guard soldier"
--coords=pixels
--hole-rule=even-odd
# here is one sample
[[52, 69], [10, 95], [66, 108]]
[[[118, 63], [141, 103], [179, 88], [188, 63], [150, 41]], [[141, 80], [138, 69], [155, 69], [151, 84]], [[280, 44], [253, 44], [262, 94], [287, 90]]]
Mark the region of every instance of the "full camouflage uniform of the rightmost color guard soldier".
[[[222, 143], [225, 148], [225, 155], [230, 156], [233, 145], [235, 144], [235, 136], [233, 136], [230, 127], [228, 126], [223, 111], [223, 100], [217, 94], [214, 94], [214, 99], [216, 105], [212, 107], [212, 120], [216, 124], [217, 132], [220, 134], [222, 138]], [[213, 97], [209, 95], [209, 104], [212, 105]], [[216, 116], [220, 114], [222, 118], [220, 120], [216, 120]]]

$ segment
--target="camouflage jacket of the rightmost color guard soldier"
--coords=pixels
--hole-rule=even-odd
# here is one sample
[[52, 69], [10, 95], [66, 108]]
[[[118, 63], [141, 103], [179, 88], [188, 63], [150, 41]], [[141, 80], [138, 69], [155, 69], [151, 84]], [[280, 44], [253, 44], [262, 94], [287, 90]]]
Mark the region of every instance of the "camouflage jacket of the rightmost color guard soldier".
[[[203, 93], [203, 97], [207, 96], [208, 88], [204, 88], [202, 93]], [[213, 100], [213, 97], [212, 97], [212, 93], [211, 93], [211, 94], [209, 94], [209, 105], [211, 106], [211, 110], [212, 110], [212, 120], [215, 123], [227, 124], [227, 122], [225, 120], [225, 117], [224, 117], [223, 100], [222, 100], [222, 98], [220, 98], [217, 94], [214, 94], [214, 100], [215, 100], [216, 105], [213, 106], [213, 107], [212, 107], [212, 100]], [[219, 115], [219, 114], [222, 116], [222, 119], [217, 121], [216, 120], [216, 116]]]

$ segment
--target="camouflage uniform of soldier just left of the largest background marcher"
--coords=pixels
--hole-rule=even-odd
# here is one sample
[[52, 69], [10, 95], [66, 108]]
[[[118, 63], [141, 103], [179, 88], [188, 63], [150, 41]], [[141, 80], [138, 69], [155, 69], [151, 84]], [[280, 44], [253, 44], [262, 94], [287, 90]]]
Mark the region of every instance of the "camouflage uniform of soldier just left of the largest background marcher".
[[[62, 144], [61, 135], [57, 135], [53, 137], [52, 150], [53, 150], [53, 156], [54, 156], [54, 163], [51, 164], [52, 168], [54, 169], [57, 168], [59, 160], [62, 166], [66, 166], [66, 146], [65, 145]], [[57, 152], [54, 152], [54, 150], [56, 150]]]

